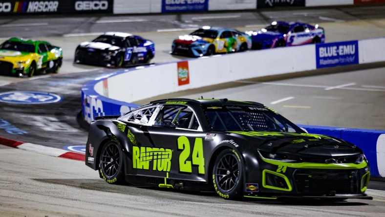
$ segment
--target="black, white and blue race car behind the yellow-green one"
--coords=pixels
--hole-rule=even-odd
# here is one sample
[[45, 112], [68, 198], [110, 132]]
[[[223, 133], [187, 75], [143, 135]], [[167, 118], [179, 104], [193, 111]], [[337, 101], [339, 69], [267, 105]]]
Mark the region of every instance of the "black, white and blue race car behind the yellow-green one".
[[106, 32], [75, 50], [75, 63], [107, 67], [148, 64], [155, 56], [155, 44], [140, 36]]

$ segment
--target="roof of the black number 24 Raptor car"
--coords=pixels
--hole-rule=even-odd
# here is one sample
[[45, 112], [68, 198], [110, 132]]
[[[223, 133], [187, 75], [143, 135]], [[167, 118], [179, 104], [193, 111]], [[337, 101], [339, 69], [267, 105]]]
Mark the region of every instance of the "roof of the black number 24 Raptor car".
[[197, 104], [197, 105], [214, 105], [214, 106], [258, 106], [263, 107], [263, 104], [251, 101], [235, 101], [224, 99], [186, 99], [186, 98], [172, 98], [161, 99], [150, 102], [151, 104], [165, 103], [165, 104]]

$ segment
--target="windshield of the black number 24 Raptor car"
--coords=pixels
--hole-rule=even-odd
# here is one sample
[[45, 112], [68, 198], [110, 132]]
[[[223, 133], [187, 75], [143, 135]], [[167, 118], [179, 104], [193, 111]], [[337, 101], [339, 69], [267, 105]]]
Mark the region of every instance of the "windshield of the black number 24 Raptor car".
[[204, 109], [215, 131], [304, 132], [281, 115], [261, 107], [221, 106]]

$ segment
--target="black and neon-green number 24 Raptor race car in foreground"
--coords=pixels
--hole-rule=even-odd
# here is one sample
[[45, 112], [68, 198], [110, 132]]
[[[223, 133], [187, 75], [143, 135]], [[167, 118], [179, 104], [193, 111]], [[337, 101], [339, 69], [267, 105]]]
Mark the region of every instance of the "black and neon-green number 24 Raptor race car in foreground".
[[225, 199], [371, 199], [357, 146], [306, 133], [273, 109], [227, 99], [168, 99], [90, 124], [86, 165], [110, 184]]

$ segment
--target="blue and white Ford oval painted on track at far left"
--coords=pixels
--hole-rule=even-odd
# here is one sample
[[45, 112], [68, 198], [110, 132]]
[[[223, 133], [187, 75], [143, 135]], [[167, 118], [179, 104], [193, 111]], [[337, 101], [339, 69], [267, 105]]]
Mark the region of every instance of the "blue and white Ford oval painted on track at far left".
[[0, 102], [16, 104], [56, 103], [62, 100], [57, 94], [35, 91], [10, 91], [0, 93]]

